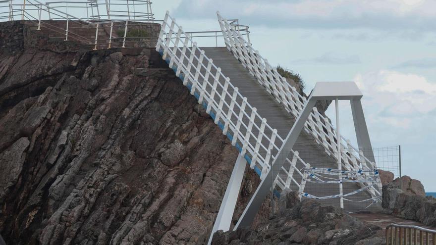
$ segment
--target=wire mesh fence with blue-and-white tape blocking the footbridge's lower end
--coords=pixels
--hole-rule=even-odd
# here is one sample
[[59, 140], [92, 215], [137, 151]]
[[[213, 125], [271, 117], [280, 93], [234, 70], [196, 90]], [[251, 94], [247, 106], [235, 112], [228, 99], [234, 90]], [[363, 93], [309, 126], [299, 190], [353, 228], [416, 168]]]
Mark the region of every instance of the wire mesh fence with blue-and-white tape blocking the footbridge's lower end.
[[[399, 146], [358, 151], [350, 147], [341, 149], [341, 157], [337, 151], [298, 148], [300, 150], [287, 152], [286, 158], [281, 159], [283, 167], [273, 173], [274, 211], [283, 190], [295, 191], [301, 199], [317, 199], [349, 212], [380, 211], [382, 182], [401, 175]], [[341, 159], [340, 164], [337, 159]]]

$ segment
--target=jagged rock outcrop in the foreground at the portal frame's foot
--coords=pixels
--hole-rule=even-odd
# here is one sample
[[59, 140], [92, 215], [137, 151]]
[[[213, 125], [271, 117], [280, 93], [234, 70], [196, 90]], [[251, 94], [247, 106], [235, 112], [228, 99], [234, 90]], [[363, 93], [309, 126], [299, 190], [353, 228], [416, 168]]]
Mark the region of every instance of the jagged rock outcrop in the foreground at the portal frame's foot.
[[[288, 204], [295, 203], [288, 195]], [[283, 205], [282, 207], [287, 207]], [[381, 227], [362, 223], [342, 209], [323, 206], [314, 199], [297, 202], [292, 208], [280, 210], [280, 215], [257, 226], [236, 231], [215, 233], [212, 244], [358, 244], [382, 245]]]

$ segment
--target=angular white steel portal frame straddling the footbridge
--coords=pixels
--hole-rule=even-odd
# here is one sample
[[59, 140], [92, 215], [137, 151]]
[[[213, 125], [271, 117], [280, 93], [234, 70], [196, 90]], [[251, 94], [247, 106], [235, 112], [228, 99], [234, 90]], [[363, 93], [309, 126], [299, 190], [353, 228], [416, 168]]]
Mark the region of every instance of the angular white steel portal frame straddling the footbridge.
[[[250, 199], [247, 207], [239, 218], [238, 223], [234, 227], [234, 230], [236, 230], [238, 227], [248, 227], [253, 222], [253, 219], [261, 207], [265, 197], [270, 192], [272, 180], [276, 179], [284, 161], [286, 160], [287, 154], [294, 146], [301, 131], [304, 129], [304, 125], [318, 100], [350, 100], [352, 104], [354, 124], [359, 126], [355, 128], [357, 138], [361, 139], [361, 141], [358, 142], [359, 147], [367, 148], [368, 151], [371, 151], [371, 142], [369, 141], [368, 129], [366, 127], [365, 117], [363, 115], [362, 104], [360, 103], [361, 98], [362, 93], [357, 88], [356, 84], [352, 82], [330, 82], [316, 84], [310, 98], [307, 100], [301, 113], [289, 131], [289, 134], [284, 140], [283, 145], [280, 147], [277, 157], [275, 157], [274, 161], [272, 162], [272, 168], [268, 170], [266, 178], [262, 179], [256, 192]], [[362, 139], [366, 139], [368, 141]]]

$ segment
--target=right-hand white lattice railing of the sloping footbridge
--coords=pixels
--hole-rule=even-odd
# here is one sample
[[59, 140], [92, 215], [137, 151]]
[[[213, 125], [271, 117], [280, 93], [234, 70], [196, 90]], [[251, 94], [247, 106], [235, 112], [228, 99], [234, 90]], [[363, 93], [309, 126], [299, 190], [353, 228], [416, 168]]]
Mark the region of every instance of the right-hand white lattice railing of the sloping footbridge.
[[[258, 50], [254, 50], [251, 44], [246, 41], [239, 33], [228, 24], [228, 21], [222, 18], [217, 12], [218, 22], [223, 32], [224, 43], [236, 59], [240, 60], [242, 65], [253, 75], [256, 80], [280, 103], [288, 113], [294, 117], [298, 117], [306, 98], [302, 97], [296, 89], [289, 85], [285, 78], [283, 78], [271, 66], [267, 59], [263, 58]], [[314, 107], [308, 121], [305, 123], [305, 131], [311, 134], [317, 143], [325, 148], [327, 154], [331, 155], [337, 160], [337, 149], [335, 128], [329, 120], [318, 112]], [[370, 161], [362, 150], [356, 149], [351, 143], [340, 137], [341, 148], [347, 149], [341, 151], [341, 163], [345, 170], [375, 170], [376, 164]], [[289, 162], [291, 162], [288, 159]], [[286, 170], [285, 170], [286, 171]], [[287, 172], [291, 172], [289, 170]], [[299, 173], [303, 176], [302, 173]], [[368, 175], [368, 173], [366, 173]], [[292, 176], [292, 175], [290, 175]], [[283, 185], [283, 183], [290, 183], [289, 180], [281, 180], [278, 176], [275, 183]], [[289, 177], [292, 178], [292, 177]], [[295, 182], [295, 181], [294, 181]], [[380, 179], [377, 181], [377, 188], [371, 188], [372, 196], [380, 196], [382, 191]], [[362, 184], [365, 185], [365, 184]], [[284, 187], [288, 187], [284, 185]]]

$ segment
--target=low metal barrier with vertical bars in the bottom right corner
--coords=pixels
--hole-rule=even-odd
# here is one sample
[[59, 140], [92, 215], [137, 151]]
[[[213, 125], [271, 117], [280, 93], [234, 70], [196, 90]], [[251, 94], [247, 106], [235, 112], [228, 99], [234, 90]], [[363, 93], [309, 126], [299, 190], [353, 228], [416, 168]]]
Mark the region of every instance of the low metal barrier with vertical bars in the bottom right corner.
[[436, 231], [414, 225], [390, 224], [386, 245], [436, 245]]

